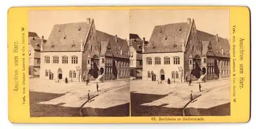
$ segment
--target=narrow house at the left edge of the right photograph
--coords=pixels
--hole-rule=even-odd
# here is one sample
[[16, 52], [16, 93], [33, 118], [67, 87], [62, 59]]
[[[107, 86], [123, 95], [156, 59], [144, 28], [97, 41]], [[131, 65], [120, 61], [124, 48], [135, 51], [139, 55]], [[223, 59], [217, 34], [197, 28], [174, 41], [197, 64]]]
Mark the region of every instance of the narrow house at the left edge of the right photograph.
[[142, 45], [147, 44], [145, 38], [142, 39], [137, 34], [130, 34], [129, 56], [130, 56], [130, 76], [142, 78]]

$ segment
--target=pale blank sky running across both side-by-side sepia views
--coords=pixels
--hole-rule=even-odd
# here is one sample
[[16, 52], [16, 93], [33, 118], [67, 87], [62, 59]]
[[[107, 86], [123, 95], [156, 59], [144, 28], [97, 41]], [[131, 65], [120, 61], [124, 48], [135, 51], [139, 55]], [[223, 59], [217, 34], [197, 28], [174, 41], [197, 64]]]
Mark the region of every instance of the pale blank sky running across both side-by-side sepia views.
[[30, 11], [29, 31], [48, 39], [55, 24], [86, 22], [93, 18], [97, 30], [129, 39], [129, 33], [150, 39], [154, 26], [195, 20], [196, 28], [229, 38], [228, 9], [193, 10], [51, 10]]

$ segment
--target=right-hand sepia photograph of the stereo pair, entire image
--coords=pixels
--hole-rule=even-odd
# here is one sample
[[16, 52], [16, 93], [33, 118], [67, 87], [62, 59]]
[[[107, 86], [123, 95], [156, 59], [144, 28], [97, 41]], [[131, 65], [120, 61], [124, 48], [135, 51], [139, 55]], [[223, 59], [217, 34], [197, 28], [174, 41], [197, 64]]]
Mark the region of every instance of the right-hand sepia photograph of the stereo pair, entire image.
[[229, 10], [129, 15], [131, 116], [229, 116]]

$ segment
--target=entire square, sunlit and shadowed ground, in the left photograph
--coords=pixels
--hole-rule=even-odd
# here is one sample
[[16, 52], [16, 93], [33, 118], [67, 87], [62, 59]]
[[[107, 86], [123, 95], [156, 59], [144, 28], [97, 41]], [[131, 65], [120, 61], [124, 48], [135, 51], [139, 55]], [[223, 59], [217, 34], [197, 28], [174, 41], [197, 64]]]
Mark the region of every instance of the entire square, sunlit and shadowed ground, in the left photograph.
[[[51, 116], [51, 112], [48, 112], [51, 110], [51, 106], [54, 106], [56, 109], [62, 109], [61, 112], [67, 112], [65, 109], [74, 109], [72, 112], [75, 112], [75, 115], [72, 116], [79, 116], [80, 106], [88, 99], [88, 90], [91, 91], [91, 96], [95, 96], [97, 94], [98, 96], [95, 97], [91, 103], [84, 106], [93, 109], [110, 109], [114, 106], [126, 105], [127, 108], [124, 106], [126, 108], [124, 110], [127, 110], [126, 112], [128, 113], [126, 114], [129, 114], [129, 80], [99, 82], [98, 85], [99, 91], [97, 92], [96, 83], [91, 82], [89, 82], [89, 85], [86, 85], [84, 82], [65, 83], [60, 81], [56, 83], [45, 79], [30, 79], [30, 104], [32, 105], [30, 108], [32, 111], [31, 116]], [[33, 110], [33, 105], [40, 105], [42, 107], [47, 106], [45, 110], [48, 111], [47, 113], [46, 111], [35, 111]], [[41, 110], [42, 108], [38, 107], [37, 109]], [[41, 112], [45, 112], [46, 114]], [[41, 115], [33, 115], [37, 113]], [[98, 112], [98, 114], [99, 113], [100, 112]], [[67, 114], [66, 116], [69, 116], [68, 113], [65, 114]], [[104, 113], [104, 115], [108, 115], [108, 113]]]

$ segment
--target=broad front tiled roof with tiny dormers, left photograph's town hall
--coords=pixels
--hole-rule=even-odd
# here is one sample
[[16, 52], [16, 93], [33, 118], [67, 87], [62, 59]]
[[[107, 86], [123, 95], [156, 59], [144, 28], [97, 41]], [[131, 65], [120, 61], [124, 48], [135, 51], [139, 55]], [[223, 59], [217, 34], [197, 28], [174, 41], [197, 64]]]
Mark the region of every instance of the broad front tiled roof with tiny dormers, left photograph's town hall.
[[[81, 51], [91, 23], [69, 23], [54, 25], [43, 51]], [[52, 47], [53, 46], [53, 47]]]

